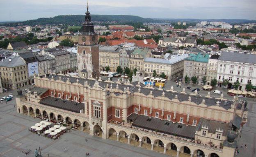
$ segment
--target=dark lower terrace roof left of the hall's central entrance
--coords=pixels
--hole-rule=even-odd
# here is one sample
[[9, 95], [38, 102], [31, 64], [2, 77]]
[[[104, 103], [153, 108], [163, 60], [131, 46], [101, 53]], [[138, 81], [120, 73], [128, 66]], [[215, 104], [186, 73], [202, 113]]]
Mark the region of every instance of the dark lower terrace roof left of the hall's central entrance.
[[50, 96], [41, 99], [40, 104], [60, 108], [60, 109], [75, 112], [75, 113], [80, 113], [80, 110], [85, 109], [84, 103], [69, 101], [69, 100], [50, 97]]

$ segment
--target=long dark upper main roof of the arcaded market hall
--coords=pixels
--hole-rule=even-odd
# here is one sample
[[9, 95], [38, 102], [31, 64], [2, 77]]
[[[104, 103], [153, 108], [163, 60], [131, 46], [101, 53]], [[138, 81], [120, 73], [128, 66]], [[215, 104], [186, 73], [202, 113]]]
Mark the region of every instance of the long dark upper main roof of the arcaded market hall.
[[[80, 84], [84, 84], [85, 81], [87, 81], [90, 86], [93, 86], [94, 83], [95, 83], [94, 80], [88, 80], [88, 79], [76, 78], [76, 77], [69, 77], [69, 76], [48, 75], [47, 77], [49, 79], [51, 79], [52, 76], [53, 76], [54, 80], [59, 80], [59, 77], [61, 77], [61, 80], [64, 81], [64, 82], [66, 82], [67, 79], [69, 78], [69, 81], [71, 83], [75, 83], [77, 79], [78, 79], [78, 82]], [[99, 82], [99, 85], [102, 86], [102, 87], [106, 86], [107, 84], [110, 85], [110, 83], [107, 83], [107, 82]], [[115, 88], [116, 86], [117, 86], [116, 83], [112, 83], [112, 88]], [[124, 84], [118, 84], [118, 86], [119, 86], [119, 89], [122, 90], [122, 91], [124, 91], [124, 88], [129, 87], [130, 92], [132, 92], [132, 93], [137, 92], [138, 89], [139, 89], [139, 87], [128, 86], [128, 85], [124, 85]], [[163, 92], [163, 91], [158, 90], [158, 89], [141, 88], [141, 93], [144, 93], [145, 95], [149, 95], [150, 91], [153, 92], [154, 97], [161, 96], [162, 92]], [[229, 102], [229, 101], [225, 102], [223, 100], [217, 100], [217, 99], [214, 99], [214, 98], [207, 98], [207, 97], [200, 97], [200, 96], [194, 96], [194, 95], [187, 95], [187, 94], [183, 94], [183, 93], [175, 93], [175, 92], [171, 92], [171, 91], [165, 91], [165, 97], [168, 97], [169, 99], [174, 99], [175, 95], [178, 96], [178, 100], [180, 100], [180, 101], [187, 101], [188, 97], [191, 97], [191, 102], [194, 102], [196, 104], [201, 104], [201, 102], [203, 100], [205, 100], [206, 106], [215, 106], [216, 102], [219, 101], [220, 102], [219, 106], [221, 106], [225, 109], [229, 109], [231, 107], [231, 102]]]

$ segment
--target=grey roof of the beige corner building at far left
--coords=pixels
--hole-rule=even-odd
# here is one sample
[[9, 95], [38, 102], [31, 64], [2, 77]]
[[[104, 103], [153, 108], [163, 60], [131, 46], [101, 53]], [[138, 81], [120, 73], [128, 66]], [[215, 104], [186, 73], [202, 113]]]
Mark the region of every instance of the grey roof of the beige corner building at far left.
[[[11, 61], [9, 61], [11, 59]], [[16, 67], [16, 66], [23, 66], [26, 65], [24, 60], [20, 56], [10, 56], [7, 57], [4, 62], [0, 61], [0, 66], [5, 66], [5, 67]]]

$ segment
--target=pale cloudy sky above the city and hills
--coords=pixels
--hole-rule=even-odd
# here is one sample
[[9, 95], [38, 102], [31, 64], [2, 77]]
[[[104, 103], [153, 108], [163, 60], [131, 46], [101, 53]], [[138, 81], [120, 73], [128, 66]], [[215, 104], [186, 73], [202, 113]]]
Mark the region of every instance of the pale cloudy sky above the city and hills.
[[[0, 21], [84, 14], [87, 0], [0, 0]], [[256, 20], [256, 0], [89, 0], [92, 14]]]

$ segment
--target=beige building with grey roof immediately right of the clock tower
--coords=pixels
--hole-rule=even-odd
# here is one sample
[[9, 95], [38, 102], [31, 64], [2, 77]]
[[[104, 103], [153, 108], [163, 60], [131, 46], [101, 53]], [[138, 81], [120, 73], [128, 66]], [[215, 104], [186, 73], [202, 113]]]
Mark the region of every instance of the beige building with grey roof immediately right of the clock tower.
[[120, 46], [99, 46], [99, 51], [100, 71], [105, 71], [105, 68], [109, 66], [111, 72], [116, 72], [122, 48]]

